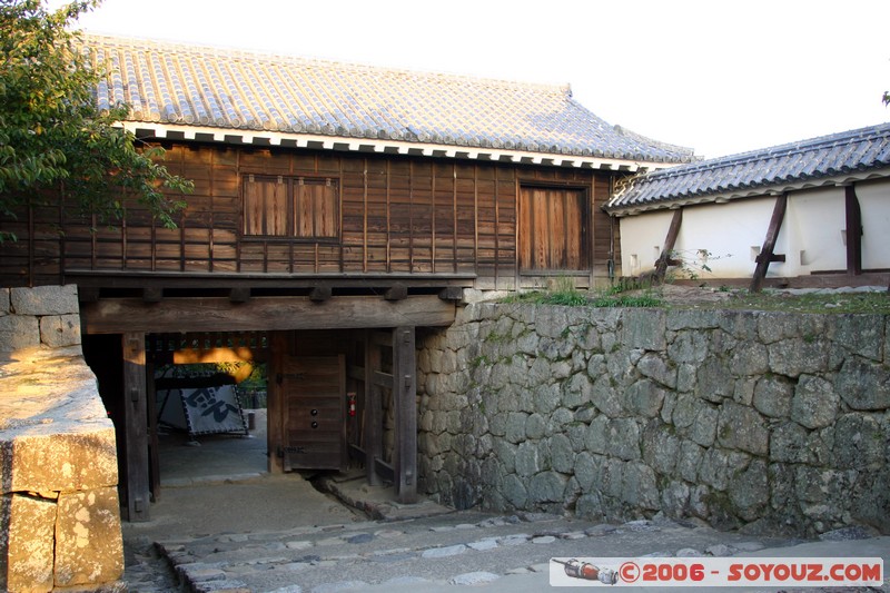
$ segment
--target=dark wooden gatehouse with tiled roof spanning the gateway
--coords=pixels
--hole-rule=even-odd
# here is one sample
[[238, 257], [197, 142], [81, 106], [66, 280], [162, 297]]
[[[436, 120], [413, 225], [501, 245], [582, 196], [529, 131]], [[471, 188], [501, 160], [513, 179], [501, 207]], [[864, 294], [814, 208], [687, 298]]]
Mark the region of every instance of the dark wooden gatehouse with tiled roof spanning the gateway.
[[449, 325], [466, 288], [607, 281], [619, 234], [601, 207], [616, 181], [692, 159], [567, 87], [87, 45], [109, 70], [99, 107], [129, 105], [121, 126], [166, 148], [195, 191], [175, 229], [135, 204], [102, 227], [63, 197], [2, 220], [19, 239], [0, 246], [0, 279], [78, 285], [134, 521], [158, 494], [151, 368], [166, 360], [267, 360], [271, 471], [355, 457], [411, 500], [415, 328]]

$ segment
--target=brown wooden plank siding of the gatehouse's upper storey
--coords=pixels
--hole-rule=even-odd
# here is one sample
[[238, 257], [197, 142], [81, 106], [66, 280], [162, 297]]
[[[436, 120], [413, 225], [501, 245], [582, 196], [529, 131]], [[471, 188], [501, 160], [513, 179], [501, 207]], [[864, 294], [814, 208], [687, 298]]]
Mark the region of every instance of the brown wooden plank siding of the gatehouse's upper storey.
[[[620, 260], [620, 254], [612, 253], [617, 244], [610, 219], [600, 209], [609, 197], [611, 176], [617, 174], [273, 147], [165, 146], [167, 168], [195, 182], [194, 194], [185, 196], [187, 209], [177, 216], [178, 228], [159, 227], [138, 205], [129, 206], [126, 219], [115, 227], [78, 215], [65, 202], [36, 207], [18, 220], [0, 221], [0, 228], [19, 237], [0, 245], [2, 285], [161, 273], [449, 276], [482, 289], [513, 289], [524, 283], [520, 246], [527, 237], [517, 225], [525, 184], [583, 190], [590, 200], [592, 228], [584, 233], [591, 247], [578, 261], [591, 280], [605, 278], [610, 255]], [[333, 180], [338, 211], [307, 210], [301, 220], [323, 225], [320, 234], [332, 234], [336, 226], [338, 237], [312, 237], [308, 227], [301, 227], [305, 237], [283, 236], [280, 225], [287, 223], [281, 220], [274, 231], [261, 231], [257, 213], [245, 213], [251, 175]], [[278, 200], [277, 207], [284, 208], [277, 194], [264, 199]], [[294, 208], [310, 208], [312, 199], [304, 196]], [[575, 260], [566, 265], [574, 269]]]

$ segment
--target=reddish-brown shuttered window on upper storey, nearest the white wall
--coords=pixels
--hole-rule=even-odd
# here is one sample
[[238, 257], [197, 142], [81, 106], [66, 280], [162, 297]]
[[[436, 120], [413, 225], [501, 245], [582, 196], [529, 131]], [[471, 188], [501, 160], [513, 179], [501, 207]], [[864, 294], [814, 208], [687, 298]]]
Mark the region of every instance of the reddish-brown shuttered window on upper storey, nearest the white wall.
[[587, 190], [523, 186], [520, 202], [520, 268], [524, 273], [587, 271]]

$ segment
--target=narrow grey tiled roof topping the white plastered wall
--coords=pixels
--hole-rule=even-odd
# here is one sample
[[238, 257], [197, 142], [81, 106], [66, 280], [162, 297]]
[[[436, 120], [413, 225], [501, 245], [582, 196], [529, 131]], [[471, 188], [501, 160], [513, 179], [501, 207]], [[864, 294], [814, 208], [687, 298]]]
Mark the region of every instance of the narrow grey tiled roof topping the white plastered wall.
[[[890, 123], [681, 165], [626, 178], [609, 201], [614, 214], [728, 200], [868, 177], [890, 168]], [[884, 175], [890, 175], [890, 169]]]

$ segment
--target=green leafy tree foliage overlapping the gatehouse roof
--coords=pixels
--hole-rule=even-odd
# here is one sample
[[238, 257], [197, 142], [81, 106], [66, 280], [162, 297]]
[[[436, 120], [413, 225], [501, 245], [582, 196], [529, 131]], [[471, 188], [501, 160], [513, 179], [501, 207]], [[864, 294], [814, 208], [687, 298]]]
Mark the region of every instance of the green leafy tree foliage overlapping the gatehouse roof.
[[41, 0], [0, 0], [0, 217], [63, 189], [68, 206], [102, 223], [119, 219], [135, 197], [174, 227], [171, 215], [185, 202], [164, 188], [187, 192], [191, 184], [157, 162], [161, 149], [137, 148], [116, 126], [127, 106], [99, 111], [93, 92], [105, 72], [67, 29], [99, 2], [49, 12]]

